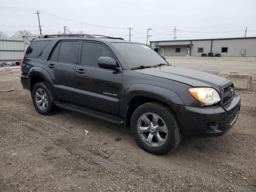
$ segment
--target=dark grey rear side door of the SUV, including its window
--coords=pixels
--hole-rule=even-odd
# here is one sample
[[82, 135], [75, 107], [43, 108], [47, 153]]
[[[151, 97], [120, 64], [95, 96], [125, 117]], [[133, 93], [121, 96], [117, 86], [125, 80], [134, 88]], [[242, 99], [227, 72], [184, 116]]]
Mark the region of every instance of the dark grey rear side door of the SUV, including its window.
[[60, 41], [56, 44], [45, 69], [54, 84], [55, 99], [74, 101], [74, 71], [77, 63], [79, 41]]

